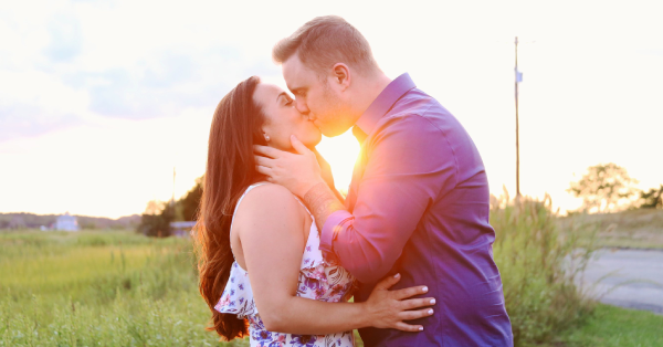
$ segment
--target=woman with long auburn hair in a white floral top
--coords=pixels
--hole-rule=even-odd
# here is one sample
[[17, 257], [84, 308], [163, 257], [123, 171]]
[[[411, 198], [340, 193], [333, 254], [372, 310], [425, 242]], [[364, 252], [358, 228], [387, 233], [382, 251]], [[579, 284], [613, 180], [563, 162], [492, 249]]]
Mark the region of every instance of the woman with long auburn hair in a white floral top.
[[197, 224], [209, 329], [228, 340], [250, 333], [251, 346], [335, 347], [354, 346], [355, 328], [423, 329], [402, 320], [431, 315], [413, 309], [432, 298], [408, 299], [425, 293], [421, 286], [387, 291], [398, 275], [382, 280], [367, 302], [348, 303], [354, 278], [323, 259], [312, 214], [254, 170], [254, 144], [293, 150], [291, 135], [309, 148], [322, 136], [285, 92], [255, 76], [217, 106]]

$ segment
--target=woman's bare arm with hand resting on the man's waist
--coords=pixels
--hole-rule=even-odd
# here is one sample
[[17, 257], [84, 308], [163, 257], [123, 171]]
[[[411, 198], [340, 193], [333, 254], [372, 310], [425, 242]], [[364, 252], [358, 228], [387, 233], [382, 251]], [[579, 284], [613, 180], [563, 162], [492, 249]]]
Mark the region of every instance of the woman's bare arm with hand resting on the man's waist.
[[[265, 328], [290, 334], [325, 335], [368, 326], [421, 330], [402, 320], [430, 315], [432, 298], [406, 299], [423, 287], [388, 291], [398, 278], [382, 281], [365, 303], [325, 303], [296, 296], [305, 246], [306, 211], [292, 193], [265, 185], [248, 193], [235, 215], [243, 257]], [[233, 231], [233, 232], [234, 232]]]

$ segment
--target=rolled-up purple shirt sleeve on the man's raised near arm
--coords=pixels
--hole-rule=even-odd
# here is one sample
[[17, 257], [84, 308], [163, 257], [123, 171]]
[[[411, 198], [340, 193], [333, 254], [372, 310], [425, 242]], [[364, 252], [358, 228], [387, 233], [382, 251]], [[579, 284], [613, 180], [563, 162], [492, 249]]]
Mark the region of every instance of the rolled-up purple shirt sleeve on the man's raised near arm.
[[391, 270], [425, 210], [455, 185], [457, 167], [442, 130], [423, 116], [388, 118], [376, 132], [352, 213], [332, 213], [320, 232], [326, 256], [364, 283]]

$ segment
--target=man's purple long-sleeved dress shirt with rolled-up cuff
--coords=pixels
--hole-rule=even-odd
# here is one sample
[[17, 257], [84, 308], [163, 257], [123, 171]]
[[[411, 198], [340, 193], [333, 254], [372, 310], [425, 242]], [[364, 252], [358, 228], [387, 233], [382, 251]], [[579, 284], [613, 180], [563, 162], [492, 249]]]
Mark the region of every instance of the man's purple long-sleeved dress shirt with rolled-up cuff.
[[428, 285], [435, 313], [421, 333], [360, 329], [371, 346], [513, 346], [493, 260], [490, 192], [481, 156], [459, 120], [393, 80], [355, 128], [361, 144], [346, 199], [320, 232], [320, 249], [355, 275], [356, 302], [400, 273], [393, 287]]

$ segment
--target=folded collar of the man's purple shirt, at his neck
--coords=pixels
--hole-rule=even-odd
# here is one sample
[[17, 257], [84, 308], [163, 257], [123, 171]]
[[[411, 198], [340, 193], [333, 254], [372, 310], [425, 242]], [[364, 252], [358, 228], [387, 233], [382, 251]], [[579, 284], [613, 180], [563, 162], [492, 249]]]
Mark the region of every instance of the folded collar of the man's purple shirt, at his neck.
[[355, 127], [359, 127], [364, 134], [370, 135], [376, 127], [376, 124], [378, 124], [380, 118], [391, 109], [393, 104], [396, 104], [401, 96], [415, 87], [417, 85], [414, 85], [414, 82], [412, 82], [412, 78], [410, 78], [408, 73], [398, 76], [396, 80], [391, 81], [370, 106], [368, 106], [355, 124]]

